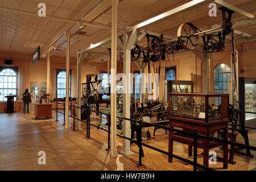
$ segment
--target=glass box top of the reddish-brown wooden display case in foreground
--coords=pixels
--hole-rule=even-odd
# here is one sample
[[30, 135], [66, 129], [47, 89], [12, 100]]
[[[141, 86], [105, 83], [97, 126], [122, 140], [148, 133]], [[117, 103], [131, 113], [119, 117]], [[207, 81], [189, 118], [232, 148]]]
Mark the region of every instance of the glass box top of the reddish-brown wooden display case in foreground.
[[228, 119], [229, 94], [169, 93], [169, 117], [212, 122]]

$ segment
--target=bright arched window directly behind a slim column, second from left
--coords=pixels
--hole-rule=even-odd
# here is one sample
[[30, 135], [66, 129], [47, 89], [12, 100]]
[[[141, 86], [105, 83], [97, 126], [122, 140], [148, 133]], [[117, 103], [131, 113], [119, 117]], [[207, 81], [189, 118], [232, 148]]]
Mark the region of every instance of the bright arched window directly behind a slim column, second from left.
[[[57, 98], [66, 97], [66, 71], [57, 72]], [[69, 75], [69, 97], [71, 96], [71, 75]]]

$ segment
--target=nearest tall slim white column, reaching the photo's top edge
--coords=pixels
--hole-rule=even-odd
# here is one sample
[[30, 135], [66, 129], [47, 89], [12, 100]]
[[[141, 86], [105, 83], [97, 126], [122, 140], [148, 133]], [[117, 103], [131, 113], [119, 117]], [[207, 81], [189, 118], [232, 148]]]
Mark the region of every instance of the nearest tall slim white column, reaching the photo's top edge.
[[111, 35], [111, 121], [110, 121], [110, 156], [117, 156], [117, 93], [115, 75], [117, 73], [117, 4], [119, 0], [112, 0], [112, 35]]

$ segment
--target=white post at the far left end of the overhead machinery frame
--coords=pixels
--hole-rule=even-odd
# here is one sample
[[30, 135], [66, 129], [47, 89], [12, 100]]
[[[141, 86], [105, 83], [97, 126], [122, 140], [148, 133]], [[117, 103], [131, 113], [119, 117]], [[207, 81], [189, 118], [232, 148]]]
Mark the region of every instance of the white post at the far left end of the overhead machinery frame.
[[[77, 106], [81, 107], [81, 66], [82, 66], [82, 60], [84, 60], [84, 54], [82, 53], [77, 54], [77, 73], [76, 73], [76, 79], [77, 79], [77, 85], [76, 85], [76, 96], [77, 96]], [[77, 109], [76, 111], [76, 117], [81, 119], [81, 109]], [[76, 121], [76, 129], [81, 130], [81, 121]]]

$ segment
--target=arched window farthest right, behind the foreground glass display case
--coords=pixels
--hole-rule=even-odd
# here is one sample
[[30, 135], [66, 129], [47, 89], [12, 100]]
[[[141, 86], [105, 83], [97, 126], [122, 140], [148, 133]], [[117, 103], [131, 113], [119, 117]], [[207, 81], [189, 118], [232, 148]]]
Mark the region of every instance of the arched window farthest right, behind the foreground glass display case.
[[214, 69], [214, 92], [228, 93], [228, 80], [231, 77], [231, 69], [228, 64], [218, 64]]

